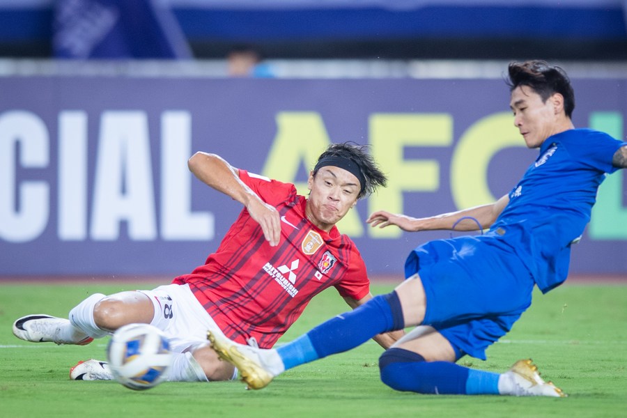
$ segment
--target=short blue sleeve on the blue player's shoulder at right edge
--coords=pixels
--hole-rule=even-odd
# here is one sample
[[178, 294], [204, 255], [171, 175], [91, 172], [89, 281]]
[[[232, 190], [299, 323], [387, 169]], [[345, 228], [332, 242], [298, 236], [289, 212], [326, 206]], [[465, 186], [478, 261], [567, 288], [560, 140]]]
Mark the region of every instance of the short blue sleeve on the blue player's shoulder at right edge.
[[621, 142], [604, 132], [589, 130], [586, 135], [573, 136], [568, 153], [605, 173], [614, 173], [618, 167], [612, 165], [616, 151], [627, 142]]

